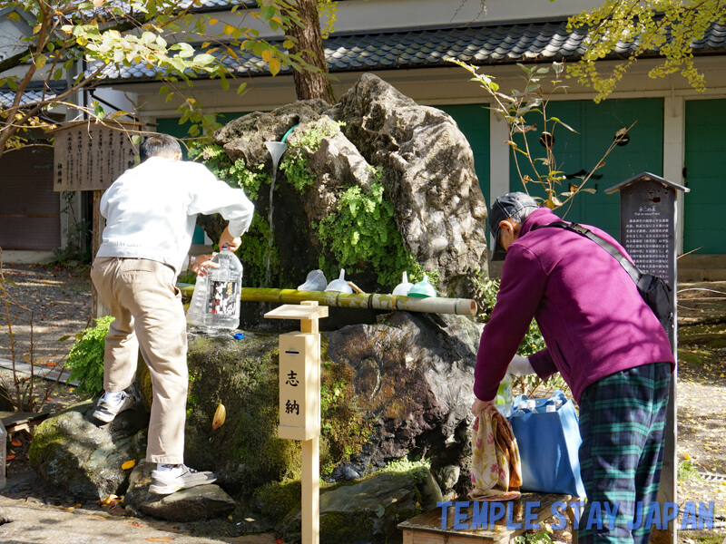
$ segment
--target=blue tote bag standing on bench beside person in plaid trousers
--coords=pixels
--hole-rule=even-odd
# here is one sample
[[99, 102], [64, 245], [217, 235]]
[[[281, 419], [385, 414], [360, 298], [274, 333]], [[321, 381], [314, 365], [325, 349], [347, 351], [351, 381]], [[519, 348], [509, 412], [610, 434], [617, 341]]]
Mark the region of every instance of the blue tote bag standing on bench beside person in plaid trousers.
[[519, 395], [507, 419], [522, 459], [521, 490], [584, 497], [577, 456], [582, 440], [572, 401], [561, 391], [545, 399]]

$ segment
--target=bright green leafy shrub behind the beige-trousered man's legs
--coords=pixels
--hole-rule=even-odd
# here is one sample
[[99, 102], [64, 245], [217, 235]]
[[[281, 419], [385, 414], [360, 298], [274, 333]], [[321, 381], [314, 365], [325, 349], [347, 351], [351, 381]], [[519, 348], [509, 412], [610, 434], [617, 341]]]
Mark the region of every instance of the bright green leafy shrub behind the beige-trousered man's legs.
[[70, 379], [78, 382], [76, 391], [90, 396], [103, 391], [103, 350], [113, 317], [100, 317], [95, 321], [93, 328], [75, 336], [75, 344], [65, 364], [72, 371]]

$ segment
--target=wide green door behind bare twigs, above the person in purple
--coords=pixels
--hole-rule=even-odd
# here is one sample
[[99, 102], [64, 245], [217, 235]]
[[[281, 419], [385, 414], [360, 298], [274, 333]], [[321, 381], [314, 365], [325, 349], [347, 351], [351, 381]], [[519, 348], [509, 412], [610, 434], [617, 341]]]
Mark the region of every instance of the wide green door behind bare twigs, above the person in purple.
[[[606, 195], [608, 189], [621, 181], [632, 178], [643, 171], [662, 175], [663, 163], [663, 122], [662, 99], [608, 100], [596, 104], [592, 101], [550, 102], [547, 116], [556, 117], [567, 123], [575, 131], [568, 131], [562, 125], [554, 127], [554, 158], [557, 170], [564, 174], [594, 169], [603, 154], [613, 143], [615, 132], [636, 124], [630, 131], [630, 140], [616, 146], [604, 159], [603, 168], [595, 172], [599, 179], [591, 178], [585, 188], [595, 189], [595, 194], [586, 192], [575, 195], [564, 208], [555, 210], [565, 219], [595, 225], [603, 228], [616, 238], [620, 237], [620, 199], [617, 194]], [[527, 133], [530, 148], [537, 157], [544, 157], [544, 145], [540, 143], [542, 117], [535, 114], [528, 118], [538, 124], [537, 131]], [[532, 134], [535, 136], [532, 136]], [[522, 145], [521, 140], [518, 145]], [[522, 174], [534, 178], [532, 169], [525, 164], [525, 156], [519, 155]], [[524, 159], [524, 160], [523, 160]], [[540, 163], [540, 171], [544, 171]], [[570, 184], [581, 182], [573, 178], [565, 180], [558, 192], [568, 190]], [[544, 189], [529, 185], [529, 192], [544, 197]], [[523, 184], [516, 169], [514, 153], [510, 159], [510, 189], [523, 190]]]

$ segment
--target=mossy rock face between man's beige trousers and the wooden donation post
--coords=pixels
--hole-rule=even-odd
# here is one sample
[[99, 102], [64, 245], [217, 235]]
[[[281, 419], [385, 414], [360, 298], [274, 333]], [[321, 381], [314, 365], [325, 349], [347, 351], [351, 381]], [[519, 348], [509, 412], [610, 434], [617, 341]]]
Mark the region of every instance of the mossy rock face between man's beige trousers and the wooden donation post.
[[[250, 333], [243, 342], [220, 338], [201, 346], [192, 339], [190, 370], [203, 369], [203, 378], [191, 384], [198, 403], [187, 419], [185, 456], [200, 466], [221, 466], [247, 493], [269, 481], [299, 477], [299, 443], [277, 438], [277, 336]], [[213, 430], [220, 403], [227, 420]]]

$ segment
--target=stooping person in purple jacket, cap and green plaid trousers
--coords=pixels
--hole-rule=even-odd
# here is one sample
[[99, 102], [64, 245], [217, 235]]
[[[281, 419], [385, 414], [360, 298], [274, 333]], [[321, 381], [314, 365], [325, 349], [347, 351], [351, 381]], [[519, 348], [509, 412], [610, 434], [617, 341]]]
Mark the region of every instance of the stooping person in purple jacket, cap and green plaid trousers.
[[[675, 361], [662, 325], [630, 276], [592, 240], [521, 192], [495, 200], [489, 212], [492, 259], [505, 258], [501, 287], [476, 357], [472, 412], [495, 398], [507, 366], [541, 378], [559, 372], [580, 405], [581, 473], [588, 504], [580, 544], [647, 544], [650, 527], [629, 529], [642, 502], [655, 500], [660, 481], [668, 386]], [[585, 226], [628, 257], [599, 228]], [[630, 257], [628, 257], [630, 258]], [[515, 357], [535, 317], [547, 347]], [[613, 529], [603, 507], [618, 504]], [[583, 528], [593, 504], [603, 528]], [[633, 524], [634, 526], [634, 524]]]

